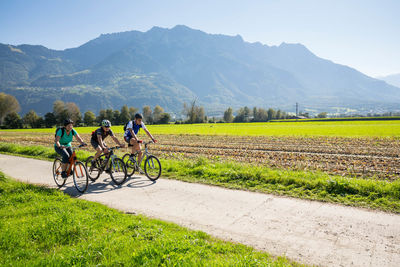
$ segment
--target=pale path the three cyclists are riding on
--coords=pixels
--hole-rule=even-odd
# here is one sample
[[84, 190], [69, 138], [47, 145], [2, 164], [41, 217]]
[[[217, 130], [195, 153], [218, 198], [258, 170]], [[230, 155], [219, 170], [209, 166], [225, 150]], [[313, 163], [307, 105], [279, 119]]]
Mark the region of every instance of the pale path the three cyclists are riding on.
[[[51, 162], [0, 155], [0, 170], [54, 186]], [[72, 179], [64, 189], [76, 195]], [[79, 198], [178, 223], [274, 255], [320, 266], [400, 266], [400, 215], [135, 176], [108, 176]]]

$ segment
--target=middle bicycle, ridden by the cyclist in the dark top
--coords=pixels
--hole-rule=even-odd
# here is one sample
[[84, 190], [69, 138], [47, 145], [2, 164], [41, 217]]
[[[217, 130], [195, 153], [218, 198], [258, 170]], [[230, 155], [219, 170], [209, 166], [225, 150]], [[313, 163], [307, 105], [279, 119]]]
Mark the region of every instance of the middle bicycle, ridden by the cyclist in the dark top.
[[127, 178], [125, 163], [114, 154], [114, 150], [119, 148], [118, 146], [108, 148], [109, 152], [101, 154], [94, 165], [92, 165], [93, 156], [90, 156], [86, 160], [86, 168], [90, 180], [93, 182], [96, 181], [100, 177], [100, 174], [105, 171], [110, 175], [115, 184], [120, 185], [125, 182]]

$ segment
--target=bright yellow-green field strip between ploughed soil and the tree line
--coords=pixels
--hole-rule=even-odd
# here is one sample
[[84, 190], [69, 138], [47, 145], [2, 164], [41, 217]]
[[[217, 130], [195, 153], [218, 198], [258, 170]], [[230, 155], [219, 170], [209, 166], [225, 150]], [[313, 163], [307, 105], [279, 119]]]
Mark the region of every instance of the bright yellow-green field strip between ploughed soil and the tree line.
[[[149, 125], [152, 134], [199, 134], [243, 136], [343, 136], [343, 137], [400, 137], [400, 120], [393, 121], [312, 121], [271, 123], [216, 123]], [[91, 133], [96, 127], [76, 127], [79, 133]], [[117, 133], [122, 126], [113, 126]], [[17, 132], [53, 133], [52, 129], [2, 130]]]

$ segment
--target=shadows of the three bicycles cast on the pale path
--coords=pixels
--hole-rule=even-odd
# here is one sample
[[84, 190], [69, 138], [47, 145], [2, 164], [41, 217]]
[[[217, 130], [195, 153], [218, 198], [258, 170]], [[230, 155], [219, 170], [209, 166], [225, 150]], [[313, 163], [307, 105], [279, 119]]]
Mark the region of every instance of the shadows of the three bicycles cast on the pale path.
[[[116, 185], [110, 176], [101, 175], [96, 181], [89, 181], [88, 189], [84, 194], [101, 194], [112, 190], [118, 190], [124, 187], [129, 188], [144, 188], [156, 184], [156, 181], [151, 181], [147, 177], [134, 175], [126, 179], [122, 185]], [[64, 185], [64, 193], [72, 196], [79, 197], [83, 194], [79, 193], [72, 180], [67, 181]]]

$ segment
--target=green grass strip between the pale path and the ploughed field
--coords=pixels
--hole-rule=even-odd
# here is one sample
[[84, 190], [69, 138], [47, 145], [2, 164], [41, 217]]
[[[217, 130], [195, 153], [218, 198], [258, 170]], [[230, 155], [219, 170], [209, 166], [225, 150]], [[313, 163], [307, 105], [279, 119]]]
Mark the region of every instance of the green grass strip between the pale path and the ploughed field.
[[[52, 148], [0, 143], [0, 152], [54, 159]], [[78, 151], [78, 158], [91, 153]], [[161, 159], [163, 177], [233, 189], [286, 195], [400, 213], [400, 180], [394, 182], [329, 175], [319, 171], [271, 169], [237, 162]]]

